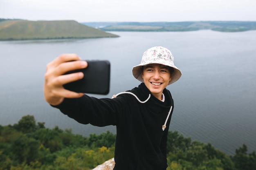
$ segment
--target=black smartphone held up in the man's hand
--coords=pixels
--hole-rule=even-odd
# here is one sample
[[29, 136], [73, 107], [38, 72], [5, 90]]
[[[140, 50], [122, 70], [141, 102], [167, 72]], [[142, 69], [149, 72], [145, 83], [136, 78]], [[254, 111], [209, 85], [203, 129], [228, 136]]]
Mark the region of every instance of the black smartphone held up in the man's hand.
[[83, 72], [83, 79], [64, 84], [67, 90], [77, 93], [107, 95], [110, 88], [110, 62], [108, 60], [85, 60], [88, 67], [65, 74]]

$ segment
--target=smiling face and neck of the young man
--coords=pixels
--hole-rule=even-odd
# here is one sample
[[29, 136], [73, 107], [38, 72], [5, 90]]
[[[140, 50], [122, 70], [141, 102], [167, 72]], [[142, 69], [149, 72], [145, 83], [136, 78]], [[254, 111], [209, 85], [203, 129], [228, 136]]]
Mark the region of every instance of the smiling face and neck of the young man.
[[148, 90], [157, 99], [162, 100], [164, 88], [171, 81], [168, 66], [162, 64], [148, 64], [144, 66], [141, 76]]

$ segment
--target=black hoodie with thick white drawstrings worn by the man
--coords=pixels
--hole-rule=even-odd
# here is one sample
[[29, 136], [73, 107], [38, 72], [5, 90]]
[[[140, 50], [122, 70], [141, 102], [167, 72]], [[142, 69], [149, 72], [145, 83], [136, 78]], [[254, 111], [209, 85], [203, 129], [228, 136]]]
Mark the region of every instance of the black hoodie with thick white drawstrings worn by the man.
[[84, 95], [54, 107], [81, 124], [117, 126], [114, 170], [166, 170], [173, 99], [166, 88], [163, 93], [164, 102], [141, 83], [113, 99]]

